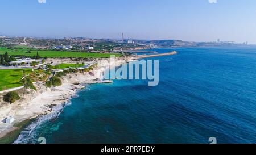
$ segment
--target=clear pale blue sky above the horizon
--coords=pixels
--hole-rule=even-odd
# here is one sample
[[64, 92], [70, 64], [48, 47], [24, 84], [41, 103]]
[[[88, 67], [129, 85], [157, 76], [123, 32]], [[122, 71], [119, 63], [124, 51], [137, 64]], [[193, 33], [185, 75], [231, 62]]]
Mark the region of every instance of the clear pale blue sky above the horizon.
[[[43, 0], [42, 0], [43, 1]], [[214, 1], [214, 0], [212, 0]], [[0, 34], [256, 44], [255, 0], [1, 0]]]

